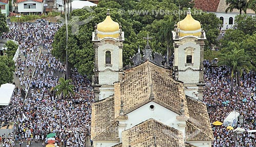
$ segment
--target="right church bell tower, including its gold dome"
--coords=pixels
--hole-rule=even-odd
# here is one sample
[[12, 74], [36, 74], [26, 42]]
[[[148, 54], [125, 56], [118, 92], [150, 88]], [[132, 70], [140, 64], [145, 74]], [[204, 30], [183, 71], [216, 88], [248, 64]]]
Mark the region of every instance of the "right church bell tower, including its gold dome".
[[174, 40], [174, 78], [184, 83], [187, 96], [203, 99], [204, 91], [204, 41], [205, 32], [199, 21], [187, 16], [175, 25]]

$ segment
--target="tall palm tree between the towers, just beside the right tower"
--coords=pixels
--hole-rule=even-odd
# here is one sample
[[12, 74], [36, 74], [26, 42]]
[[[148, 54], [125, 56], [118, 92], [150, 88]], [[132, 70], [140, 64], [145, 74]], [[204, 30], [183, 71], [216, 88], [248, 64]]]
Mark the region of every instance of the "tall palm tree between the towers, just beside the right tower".
[[161, 28], [159, 31], [160, 34], [160, 41], [162, 43], [166, 42], [167, 44], [167, 57], [166, 57], [166, 63], [169, 65], [169, 54], [170, 54], [170, 44], [172, 43], [172, 31], [174, 29], [174, 22], [172, 19], [168, 18], [168, 20], [165, 20], [161, 22]]

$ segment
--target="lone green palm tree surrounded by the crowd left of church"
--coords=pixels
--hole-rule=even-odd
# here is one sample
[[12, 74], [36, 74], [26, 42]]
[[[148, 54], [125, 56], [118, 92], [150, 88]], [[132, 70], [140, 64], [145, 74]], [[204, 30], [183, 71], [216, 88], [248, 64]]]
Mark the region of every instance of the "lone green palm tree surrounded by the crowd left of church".
[[59, 78], [59, 84], [54, 87], [53, 90], [57, 90], [56, 95], [63, 94], [63, 98], [70, 97], [70, 95], [74, 95], [74, 85], [71, 84], [72, 79], [65, 80], [64, 78]]

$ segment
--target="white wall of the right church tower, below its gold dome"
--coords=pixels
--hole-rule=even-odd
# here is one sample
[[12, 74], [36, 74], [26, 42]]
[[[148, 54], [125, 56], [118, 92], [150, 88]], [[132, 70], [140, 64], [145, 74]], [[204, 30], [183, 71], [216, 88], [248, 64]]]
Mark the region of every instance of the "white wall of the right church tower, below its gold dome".
[[184, 92], [187, 96], [202, 100], [205, 34], [203, 38], [185, 36], [173, 39], [175, 78], [184, 83]]

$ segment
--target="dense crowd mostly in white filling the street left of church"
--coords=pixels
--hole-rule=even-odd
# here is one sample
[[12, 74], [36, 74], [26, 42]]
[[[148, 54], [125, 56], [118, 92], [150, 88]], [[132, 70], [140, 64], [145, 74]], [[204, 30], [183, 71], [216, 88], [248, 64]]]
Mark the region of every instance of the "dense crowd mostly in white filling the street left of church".
[[[19, 41], [15, 76], [20, 85], [25, 85], [27, 90], [31, 82], [25, 101], [25, 90], [16, 87], [10, 105], [0, 111], [1, 121], [15, 122], [16, 127], [14, 134], [0, 137], [6, 147], [13, 146], [14, 142], [20, 146], [26, 142], [29, 146], [32, 141], [45, 146], [49, 133], [56, 133], [56, 146], [86, 146], [94, 101], [90, 81], [74, 69], [71, 78], [75, 95], [63, 99], [53, 91], [59, 77], [66, 72], [65, 66], [51, 55], [53, 36], [60, 26], [56, 23], [21, 23], [19, 26], [10, 23], [10, 31], [3, 34], [2, 38]], [[39, 46], [47, 52], [39, 55]], [[21, 56], [25, 56], [24, 61]], [[35, 67], [33, 77], [31, 67]]]

